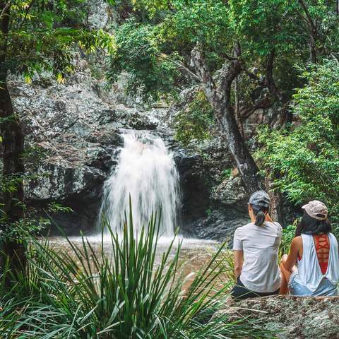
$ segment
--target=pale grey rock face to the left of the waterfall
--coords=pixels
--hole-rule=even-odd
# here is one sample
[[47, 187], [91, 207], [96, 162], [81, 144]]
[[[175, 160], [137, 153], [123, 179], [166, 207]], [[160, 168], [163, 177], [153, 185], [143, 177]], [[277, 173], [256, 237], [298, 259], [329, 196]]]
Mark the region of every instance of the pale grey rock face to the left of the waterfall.
[[26, 163], [26, 201], [38, 208], [51, 201], [73, 208], [73, 215], [54, 215], [71, 233], [93, 226], [102, 183], [117, 165], [120, 129], [155, 130], [165, 112], [126, 106], [119, 89], [105, 92], [99, 85], [89, 69], [79, 69], [65, 84], [50, 78], [10, 83], [27, 148], [42, 155]]

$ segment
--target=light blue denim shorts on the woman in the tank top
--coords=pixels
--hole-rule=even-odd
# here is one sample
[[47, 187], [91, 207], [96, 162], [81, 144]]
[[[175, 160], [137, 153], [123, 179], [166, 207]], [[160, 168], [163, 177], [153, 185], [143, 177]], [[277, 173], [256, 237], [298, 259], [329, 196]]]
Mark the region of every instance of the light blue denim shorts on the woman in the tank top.
[[321, 283], [317, 287], [315, 291], [309, 290], [309, 288], [305, 285], [299, 283], [299, 272], [293, 272], [290, 277], [290, 282], [288, 283], [288, 288], [290, 290], [291, 295], [299, 295], [299, 296], [334, 296], [338, 295], [338, 286], [333, 285], [330, 280], [323, 278]]

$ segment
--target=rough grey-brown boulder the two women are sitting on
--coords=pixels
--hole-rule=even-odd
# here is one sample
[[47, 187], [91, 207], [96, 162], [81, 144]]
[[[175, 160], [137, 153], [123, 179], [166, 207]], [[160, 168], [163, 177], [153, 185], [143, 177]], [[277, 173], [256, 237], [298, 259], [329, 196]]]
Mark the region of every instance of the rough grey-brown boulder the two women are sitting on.
[[232, 302], [222, 314], [230, 321], [250, 317], [276, 331], [276, 338], [339, 338], [339, 297], [276, 296]]

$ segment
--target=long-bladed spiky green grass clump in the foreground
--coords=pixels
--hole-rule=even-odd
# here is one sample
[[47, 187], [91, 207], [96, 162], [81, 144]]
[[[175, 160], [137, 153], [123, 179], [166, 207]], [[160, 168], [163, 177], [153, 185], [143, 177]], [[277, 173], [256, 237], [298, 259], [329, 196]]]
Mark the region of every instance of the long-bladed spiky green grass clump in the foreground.
[[215, 313], [225, 297], [217, 288], [224, 270], [217, 260], [222, 247], [184, 290], [177, 240], [155, 262], [159, 232], [156, 214], [138, 234], [130, 214], [121, 234], [110, 232], [112, 252], [106, 253], [103, 235], [100, 254], [85, 238], [80, 245], [69, 241], [71, 251], [64, 253], [46, 240], [32, 240], [28, 274], [0, 291], [0, 338], [271, 337], [253, 321], [231, 322]]

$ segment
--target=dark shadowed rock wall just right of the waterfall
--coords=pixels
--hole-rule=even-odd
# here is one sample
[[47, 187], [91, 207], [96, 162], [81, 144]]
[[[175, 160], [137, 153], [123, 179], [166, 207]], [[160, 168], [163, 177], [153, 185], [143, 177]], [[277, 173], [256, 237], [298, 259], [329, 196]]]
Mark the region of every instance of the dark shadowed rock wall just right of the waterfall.
[[195, 145], [192, 153], [176, 161], [183, 192], [181, 232], [198, 239], [230, 239], [237, 227], [249, 222], [249, 195], [240, 177], [232, 176], [234, 165], [227, 145], [215, 136]]

